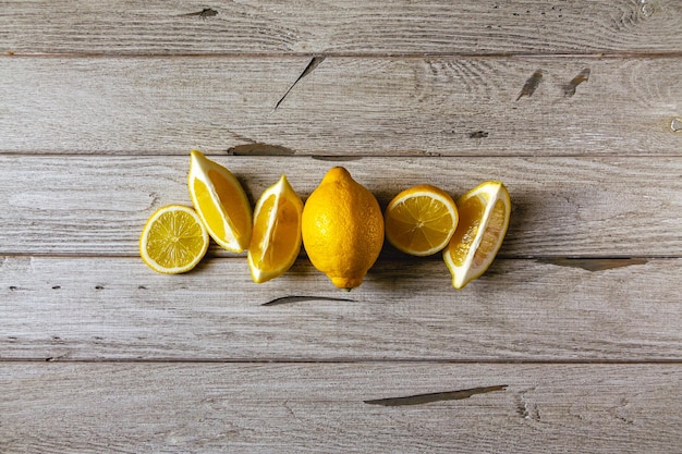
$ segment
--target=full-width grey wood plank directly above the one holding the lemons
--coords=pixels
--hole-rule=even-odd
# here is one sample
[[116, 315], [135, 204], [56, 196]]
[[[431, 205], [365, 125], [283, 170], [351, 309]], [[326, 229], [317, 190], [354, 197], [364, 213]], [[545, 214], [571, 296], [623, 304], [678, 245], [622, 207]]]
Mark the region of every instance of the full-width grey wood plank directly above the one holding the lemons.
[[308, 58], [1, 61], [2, 152], [184, 155], [253, 143], [337, 156], [682, 149], [671, 127], [682, 115], [682, 58], [328, 58], [290, 91]]

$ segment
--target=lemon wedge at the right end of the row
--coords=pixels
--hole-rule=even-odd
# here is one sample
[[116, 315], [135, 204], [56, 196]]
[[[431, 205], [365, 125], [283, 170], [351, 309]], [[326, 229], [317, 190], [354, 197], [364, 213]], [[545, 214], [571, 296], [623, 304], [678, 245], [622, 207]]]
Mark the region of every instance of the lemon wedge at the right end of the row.
[[485, 182], [456, 201], [460, 222], [443, 251], [452, 286], [463, 289], [480, 277], [497, 255], [509, 226], [511, 200], [500, 182]]

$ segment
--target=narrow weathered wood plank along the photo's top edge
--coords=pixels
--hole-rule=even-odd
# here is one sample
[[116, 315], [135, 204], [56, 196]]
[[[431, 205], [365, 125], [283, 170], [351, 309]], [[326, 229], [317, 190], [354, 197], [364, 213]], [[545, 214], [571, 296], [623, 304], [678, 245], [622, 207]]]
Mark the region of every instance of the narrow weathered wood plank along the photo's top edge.
[[677, 0], [0, 3], [2, 53], [656, 53], [681, 34]]

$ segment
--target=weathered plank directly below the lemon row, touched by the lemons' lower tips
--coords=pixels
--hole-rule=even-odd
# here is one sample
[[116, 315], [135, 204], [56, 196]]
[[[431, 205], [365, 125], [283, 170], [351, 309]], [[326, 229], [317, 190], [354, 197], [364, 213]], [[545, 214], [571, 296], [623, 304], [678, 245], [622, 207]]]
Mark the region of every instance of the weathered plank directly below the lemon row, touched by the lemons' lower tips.
[[305, 259], [258, 285], [240, 258], [5, 257], [0, 358], [680, 360], [680, 282], [681, 259], [498, 259], [458, 292], [439, 259], [379, 260], [345, 293]]

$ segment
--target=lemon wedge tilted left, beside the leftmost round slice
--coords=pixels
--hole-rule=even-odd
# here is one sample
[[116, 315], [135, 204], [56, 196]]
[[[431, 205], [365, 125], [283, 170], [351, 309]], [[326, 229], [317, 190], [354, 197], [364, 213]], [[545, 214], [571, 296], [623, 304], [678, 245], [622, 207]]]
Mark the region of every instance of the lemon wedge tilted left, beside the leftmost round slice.
[[240, 182], [222, 165], [193, 150], [187, 187], [208, 234], [222, 248], [241, 253], [248, 247], [252, 211]]

